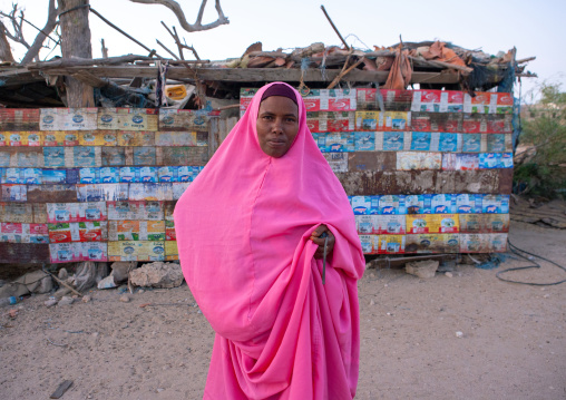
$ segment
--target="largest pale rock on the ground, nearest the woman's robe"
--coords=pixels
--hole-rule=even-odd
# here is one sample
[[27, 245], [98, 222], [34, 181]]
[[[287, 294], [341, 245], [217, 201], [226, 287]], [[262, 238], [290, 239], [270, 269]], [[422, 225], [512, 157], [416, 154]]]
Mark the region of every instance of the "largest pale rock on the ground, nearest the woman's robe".
[[183, 271], [177, 263], [156, 261], [130, 271], [129, 282], [144, 287], [177, 287], [183, 283]]

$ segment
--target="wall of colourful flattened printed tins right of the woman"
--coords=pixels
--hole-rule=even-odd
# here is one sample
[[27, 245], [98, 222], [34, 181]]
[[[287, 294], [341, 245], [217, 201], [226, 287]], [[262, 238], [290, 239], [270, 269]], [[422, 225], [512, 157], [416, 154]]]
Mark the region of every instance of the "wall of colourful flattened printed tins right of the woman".
[[[242, 89], [241, 113], [254, 94]], [[364, 253], [506, 251], [510, 94], [315, 89], [304, 101]]]

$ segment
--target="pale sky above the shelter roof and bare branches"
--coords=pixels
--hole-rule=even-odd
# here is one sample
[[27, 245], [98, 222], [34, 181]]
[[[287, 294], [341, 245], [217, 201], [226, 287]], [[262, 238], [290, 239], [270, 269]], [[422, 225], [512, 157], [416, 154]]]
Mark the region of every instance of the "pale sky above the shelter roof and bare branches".
[[[0, 10], [8, 12], [16, 0], [0, 0]], [[48, 0], [19, 0], [26, 17], [42, 27]], [[198, 0], [179, 0], [188, 22], [193, 23]], [[255, 41], [263, 49], [293, 49], [321, 41], [326, 46], [341, 45], [340, 39], [320, 9], [324, 4], [347, 42], [355, 48], [391, 46], [403, 41], [442, 40], [467, 49], [482, 49], [496, 55], [517, 47], [517, 59], [536, 56], [527, 70], [539, 78], [524, 78], [524, 91], [547, 81], [562, 84], [566, 90], [566, 55], [560, 43], [566, 38], [566, 1], [564, 0], [476, 0], [476, 1], [377, 1], [377, 0], [223, 0], [224, 14], [230, 25], [203, 31], [185, 32], [172, 11], [163, 6], [133, 3], [128, 0], [90, 0], [90, 6], [135, 37], [145, 46], [167, 56], [155, 41], [159, 39], [170, 50], [176, 46], [160, 21], [175, 26], [180, 37], [193, 45], [202, 59], [222, 60], [240, 57]], [[203, 23], [216, 19], [214, 0], [208, 0]], [[90, 13], [92, 57], [101, 57], [104, 38], [109, 56], [146, 55], [146, 51], [123, 37]], [[6, 21], [4, 21], [6, 23]], [[26, 37], [33, 40], [28, 27]], [[12, 46], [16, 58], [22, 47]], [[48, 51], [41, 53], [46, 57]], [[60, 55], [59, 50], [49, 56]], [[192, 59], [188, 52], [186, 59]]]

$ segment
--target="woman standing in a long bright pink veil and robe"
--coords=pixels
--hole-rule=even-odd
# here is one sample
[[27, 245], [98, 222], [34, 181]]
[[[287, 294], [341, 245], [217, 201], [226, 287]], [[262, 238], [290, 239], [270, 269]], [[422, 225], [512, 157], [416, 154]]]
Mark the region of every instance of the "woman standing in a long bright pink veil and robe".
[[183, 273], [216, 332], [204, 399], [352, 399], [364, 260], [296, 90], [257, 91], [174, 217]]

